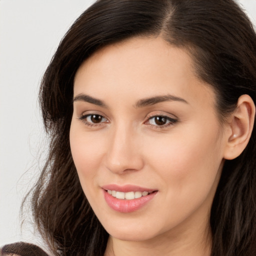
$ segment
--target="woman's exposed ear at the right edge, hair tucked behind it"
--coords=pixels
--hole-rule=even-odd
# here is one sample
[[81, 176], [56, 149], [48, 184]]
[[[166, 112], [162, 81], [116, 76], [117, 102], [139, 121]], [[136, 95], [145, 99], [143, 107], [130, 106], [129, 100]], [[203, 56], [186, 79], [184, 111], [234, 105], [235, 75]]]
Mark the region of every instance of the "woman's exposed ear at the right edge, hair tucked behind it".
[[238, 98], [237, 107], [230, 115], [226, 129], [224, 158], [237, 157], [248, 144], [255, 119], [255, 105], [249, 95]]

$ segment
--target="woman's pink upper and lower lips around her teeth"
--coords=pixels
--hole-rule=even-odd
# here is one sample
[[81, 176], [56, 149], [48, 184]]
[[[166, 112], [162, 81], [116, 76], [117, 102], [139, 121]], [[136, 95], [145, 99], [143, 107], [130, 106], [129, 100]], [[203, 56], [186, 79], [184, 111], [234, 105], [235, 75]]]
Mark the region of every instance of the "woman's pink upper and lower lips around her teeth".
[[[140, 209], [145, 204], [147, 204], [151, 199], [153, 199], [153, 197], [156, 195], [158, 191], [157, 189], [146, 188], [146, 187], [141, 187], [136, 185], [120, 186], [116, 184], [109, 184], [109, 185], [104, 185], [101, 188], [103, 191], [105, 201], [108, 204], [108, 206], [115, 211], [123, 212], [123, 213], [133, 212]], [[107, 190], [115, 190], [120, 192], [148, 191], [150, 193], [148, 195], [141, 196], [139, 198], [126, 200], [126, 199], [118, 199], [116, 197], [113, 197], [107, 192]]]

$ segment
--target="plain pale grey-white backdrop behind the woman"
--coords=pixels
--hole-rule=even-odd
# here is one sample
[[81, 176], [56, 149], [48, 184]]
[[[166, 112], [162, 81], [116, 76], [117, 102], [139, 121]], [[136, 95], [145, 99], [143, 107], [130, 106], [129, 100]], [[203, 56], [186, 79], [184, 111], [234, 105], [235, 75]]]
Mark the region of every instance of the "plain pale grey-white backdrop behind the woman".
[[[47, 151], [37, 102], [41, 76], [60, 39], [93, 0], [0, 0], [0, 246], [42, 245], [19, 209]], [[256, 0], [239, 0], [256, 24]]]

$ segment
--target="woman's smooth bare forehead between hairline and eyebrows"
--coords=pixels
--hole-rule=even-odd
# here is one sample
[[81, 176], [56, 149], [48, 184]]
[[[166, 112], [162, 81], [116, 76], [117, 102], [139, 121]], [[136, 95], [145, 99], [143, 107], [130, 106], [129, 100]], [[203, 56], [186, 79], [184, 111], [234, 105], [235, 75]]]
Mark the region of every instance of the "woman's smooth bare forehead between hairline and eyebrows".
[[[213, 90], [201, 81], [185, 49], [162, 37], [137, 37], [108, 45], [86, 59], [74, 79], [74, 95], [123, 95], [132, 99], [171, 93], [187, 101], [212, 98]], [[206, 93], [206, 94], [205, 94]], [[203, 95], [205, 94], [205, 95]]]

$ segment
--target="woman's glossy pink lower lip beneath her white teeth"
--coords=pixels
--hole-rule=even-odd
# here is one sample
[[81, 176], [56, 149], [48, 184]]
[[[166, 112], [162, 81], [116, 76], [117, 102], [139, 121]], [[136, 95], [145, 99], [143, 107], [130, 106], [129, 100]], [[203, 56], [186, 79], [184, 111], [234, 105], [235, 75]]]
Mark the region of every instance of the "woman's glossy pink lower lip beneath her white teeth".
[[138, 210], [142, 206], [144, 206], [148, 201], [150, 201], [156, 194], [156, 192], [152, 192], [148, 195], [141, 196], [139, 198], [134, 198], [131, 200], [127, 199], [118, 199], [110, 195], [106, 190], [103, 189], [104, 197], [106, 203], [110, 208], [119, 212], [132, 212]]

